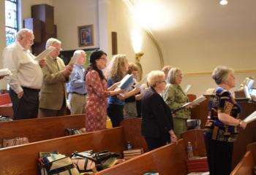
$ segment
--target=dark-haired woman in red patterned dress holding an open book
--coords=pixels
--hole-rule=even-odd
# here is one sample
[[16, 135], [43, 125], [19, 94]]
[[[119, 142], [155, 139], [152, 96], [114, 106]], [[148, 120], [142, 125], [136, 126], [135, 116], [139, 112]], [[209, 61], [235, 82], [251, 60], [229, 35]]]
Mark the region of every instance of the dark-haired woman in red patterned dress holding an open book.
[[107, 88], [106, 79], [102, 73], [107, 63], [107, 54], [102, 50], [94, 50], [90, 56], [90, 64], [86, 70], [86, 132], [106, 128], [106, 109], [108, 96], [115, 96], [122, 90], [113, 91], [118, 83]]

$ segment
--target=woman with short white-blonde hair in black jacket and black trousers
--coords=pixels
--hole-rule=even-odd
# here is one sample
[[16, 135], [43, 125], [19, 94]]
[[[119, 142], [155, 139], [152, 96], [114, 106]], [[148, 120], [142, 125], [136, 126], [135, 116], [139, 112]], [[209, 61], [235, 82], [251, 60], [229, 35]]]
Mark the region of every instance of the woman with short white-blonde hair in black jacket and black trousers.
[[167, 143], [177, 141], [173, 132], [172, 112], [159, 95], [165, 90], [165, 73], [151, 71], [147, 77], [150, 88], [141, 100], [141, 133], [146, 139], [148, 149], [156, 149]]

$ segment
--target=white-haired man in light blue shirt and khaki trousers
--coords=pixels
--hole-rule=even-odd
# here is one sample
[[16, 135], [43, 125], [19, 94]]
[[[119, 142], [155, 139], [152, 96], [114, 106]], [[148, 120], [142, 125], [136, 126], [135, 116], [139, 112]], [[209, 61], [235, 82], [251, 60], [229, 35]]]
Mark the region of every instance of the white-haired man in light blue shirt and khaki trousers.
[[86, 107], [86, 82], [84, 80], [85, 69], [83, 64], [86, 61], [86, 52], [75, 50], [73, 57], [74, 69], [70, 74], [70, 81], [67, 85], [71, 114], [84, 114]]

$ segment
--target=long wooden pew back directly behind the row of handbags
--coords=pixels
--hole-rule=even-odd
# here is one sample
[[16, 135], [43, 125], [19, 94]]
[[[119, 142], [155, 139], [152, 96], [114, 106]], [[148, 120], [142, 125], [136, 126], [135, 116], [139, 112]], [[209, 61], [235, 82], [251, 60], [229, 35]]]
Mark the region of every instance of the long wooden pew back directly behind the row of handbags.
[[121, 154], [124, 144], [124, 130], [118, 127], [7, 147], [0, 149], [0, 174], [39, 174], [39, 152], [57, 150], [61, 154], [71, 155], [75, 150], [82, 152], [93, 149], [94, 152], [99, 152], [107, 149]]

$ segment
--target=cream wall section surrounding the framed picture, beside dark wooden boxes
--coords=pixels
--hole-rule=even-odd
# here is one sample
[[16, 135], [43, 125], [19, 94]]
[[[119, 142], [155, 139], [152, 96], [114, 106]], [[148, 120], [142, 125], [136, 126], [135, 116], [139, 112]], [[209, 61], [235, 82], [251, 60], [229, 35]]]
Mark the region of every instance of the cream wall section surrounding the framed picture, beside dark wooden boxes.
[[77, 50], [78, 26], [94, 25], [94, 47], [99, 47], [99, 32], [96, 0], [54, 0], [54, 20], [57, 25], [57, 37], [64, 50]]

